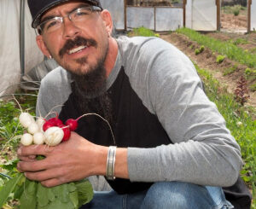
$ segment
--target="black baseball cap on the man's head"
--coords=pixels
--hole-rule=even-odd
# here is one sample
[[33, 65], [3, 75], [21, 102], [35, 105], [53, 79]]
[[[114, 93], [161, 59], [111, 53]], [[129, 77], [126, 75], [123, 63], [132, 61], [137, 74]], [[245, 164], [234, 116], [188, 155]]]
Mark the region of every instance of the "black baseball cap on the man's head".
[[[55, 7], [60, 3], [69, 2], [71, 0], [27, 0], [28, 7], [32, 15], [32, 27], [36, 28], [41, 20], [41, 16], [48, 9]], [[102, 9], [102, 5], [99, 0], [81, 0], [84, 3], [90, 3]]]

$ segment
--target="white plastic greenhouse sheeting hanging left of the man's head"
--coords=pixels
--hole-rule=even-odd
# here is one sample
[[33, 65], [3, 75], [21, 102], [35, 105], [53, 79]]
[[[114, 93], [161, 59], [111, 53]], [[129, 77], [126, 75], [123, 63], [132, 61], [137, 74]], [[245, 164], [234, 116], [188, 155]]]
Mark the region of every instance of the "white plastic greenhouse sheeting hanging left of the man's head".
[[[36, 44], [27, 3], [25, 6], [26, 73], [43, 61], [44, 56]], [[13, 93], [20, 83], [20, 0], [0, 0], [0, 17], [0, 96], [3, 96]]]

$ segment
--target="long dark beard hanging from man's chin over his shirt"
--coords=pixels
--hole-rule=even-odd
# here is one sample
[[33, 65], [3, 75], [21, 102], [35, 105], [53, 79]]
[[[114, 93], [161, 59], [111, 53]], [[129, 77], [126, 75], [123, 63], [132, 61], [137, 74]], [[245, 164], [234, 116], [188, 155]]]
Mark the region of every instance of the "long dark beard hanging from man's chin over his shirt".
[[111, 124], [113, 122], [112, 101], [107, 92], [106, 70], [103, 61], [89, 73], [77, 75], [71, 73], [71, 88], [80, 113], [97, 113]]

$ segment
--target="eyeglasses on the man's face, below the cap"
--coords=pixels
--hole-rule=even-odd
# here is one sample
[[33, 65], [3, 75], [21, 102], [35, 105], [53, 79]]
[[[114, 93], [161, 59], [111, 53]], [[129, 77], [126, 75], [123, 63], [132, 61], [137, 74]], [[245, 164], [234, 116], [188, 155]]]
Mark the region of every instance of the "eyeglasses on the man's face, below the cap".
[[54, 17], [50, 18], [49, 20], [44, 20], [37, 26], [38, 33], [42, 34], [43, 32], [49, 33], [57, 31], [58, 29], [61, 28], [63, 20], [66, 17], [68, 17], [68, 19], [71, 20], [74, 24], [79, 22], [84, 23], [84, 21], [90, 18], [91, 13], [94, 11], [102, 11], [102, 9], [96, 6], [79, 8], [75, 9], [66, 16]]

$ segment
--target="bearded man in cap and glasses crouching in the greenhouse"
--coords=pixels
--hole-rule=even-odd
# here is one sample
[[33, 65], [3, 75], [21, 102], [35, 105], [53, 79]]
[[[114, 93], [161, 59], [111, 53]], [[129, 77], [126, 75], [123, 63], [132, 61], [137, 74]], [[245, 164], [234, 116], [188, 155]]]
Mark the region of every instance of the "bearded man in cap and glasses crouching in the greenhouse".
[[42, 82], [38, 113], [97, 115], [54, 148], [20, 148], [19, 170], [46, 187], [90, 177], [96, 189], [105, 176], [113, 190], [83, 208], [233, 208], [221, 187], [239, 176], [240, 148], [191, 61], [160, 38], [113, 38], [97, 0], [28, 3], [38, 47], [61, 66]]

